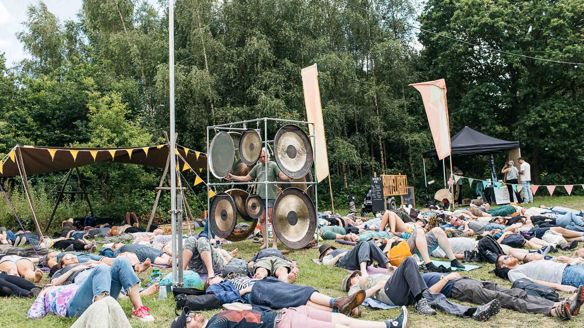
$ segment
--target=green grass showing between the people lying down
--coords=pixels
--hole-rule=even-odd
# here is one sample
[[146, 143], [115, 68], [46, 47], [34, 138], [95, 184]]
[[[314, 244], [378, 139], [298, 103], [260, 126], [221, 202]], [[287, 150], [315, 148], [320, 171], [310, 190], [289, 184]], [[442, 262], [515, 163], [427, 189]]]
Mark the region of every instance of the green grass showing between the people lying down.
[[[539, 205], [561, 205], [571, 208], [584, 208], [584, 197], [566, 196], [566, 197], [536, 197], [534, 206]], [[343, 245], [336, 245], [343, 247]], [[259, 245], [250, 240], [243, 242], [232, 243], [224, 245], [226, 250], [233, 250], [239, 248], [239, 256], [242, 259], [249, 260], [258, 251]], [[282, 248], [281, 246], [280, 248]], [[572, 252], [560, 252], [560, 254], [569, 255]], [[318, 266], [313, 263], [311, 259], [318, 257], [317, 249], [303, 249], [291, 250], [287, 255], [289, 259], [296, 260], [298, 267], [300, 267], [297, 284], [311, 285], [317, 288], [320, 292], [330, 296], [345, 296], [346, 294], [340, 289], [340, 281], [346, 275], [346, 271], [340, 268], [331, 268], [325, 266]], [[488, 271], [493, 269], [493, 264], [483, 264], [482, 268], [468, 271], [464, 273], [468, 277], [477, 278], [479, 280], [496, 281], [499, 285], [510, 287], [510, 282], [496, 278], [495, 275], [489, 274]], [[163, 269], [164, 272], [170, 272], [170, 269]], [[151, 270], [147, 270], [139, 274], [139, 277], [148, 279]], [[48, 278], [45, 277], [39, 285], [46, 284]], [[147, 281], [145, 281], [147, 282]], [[144, 284], [145, 284], [144, 282]], [[561, 293], [561, 296], [568, 296], [567, 293]], [[169, 327], [172, 320], [175, 318], [175, 302], [172, 294], [169, 294], [168, 299], [159, 300], [158, 295], [153, 295], [143, 299], [144, 305], [151, 309], [152, 315], [155, 317], [154, 323], [142, 323], [138, 320], [130, 319], [133, 327]], [[65, 328], [71, 326], [73, 319], [65, 319], [57, 317], [54, 314], [49, 314], [43, 319], [27, 319], [27, 312], [32, 305], [33, 299], [24, 298], [0, 298], [0, 328]], [[121, 306], [126, 313], [130, 313], [131, 303], [129, 300], [121, 301]], [[472, 306], [472, 305], [471, 305]], [[413, 306], [409, 306], [411, 319], [411, 327], [583, 327], [584, 315], [573, 317], [572, 320], [557, 320], [543, 315], [531, 315], [527, 313], [519, 313], [512, 310], [501, 309], [501, 312], [492, 317], [491, 320], [485, 323], [479, 323], [472, 319], [460, 319], [459, 317], [447, 315], [444, 312], [439, 312], [436, 316], [420, 316], [413, 312]], [[218, 311], [208, 311], [205, 314], [211, 316]], [[397, 309], [392, 310], [372, 310], [363, 308], [363, 319], [368, 320], [387, 320], [388, 317], [395, 317], [398, 314]]]

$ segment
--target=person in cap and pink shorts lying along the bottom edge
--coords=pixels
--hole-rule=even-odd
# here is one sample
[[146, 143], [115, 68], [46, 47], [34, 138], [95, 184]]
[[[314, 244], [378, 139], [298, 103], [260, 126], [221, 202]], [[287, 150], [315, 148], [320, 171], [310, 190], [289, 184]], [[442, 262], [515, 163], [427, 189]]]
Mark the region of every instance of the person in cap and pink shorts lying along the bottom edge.
[[354, 319], [342, 313], [331, 313], [310, 306], [286, 308], [281, 311], [227, 310], [211, 319], [183, 308], [171, 328], [407, 328], [408, 309], [402, 306], [395, 319], [385, 322]]

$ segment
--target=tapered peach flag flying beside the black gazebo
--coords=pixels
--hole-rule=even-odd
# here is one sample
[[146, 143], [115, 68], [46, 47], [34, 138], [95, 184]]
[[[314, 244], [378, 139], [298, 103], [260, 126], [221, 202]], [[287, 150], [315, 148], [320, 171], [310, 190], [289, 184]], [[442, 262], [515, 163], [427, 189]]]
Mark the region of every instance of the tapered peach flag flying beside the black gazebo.
[[432, 131], [434, 146], [439, 159], [450, 155], [450, 124], [448, 121], [448, 104], [446, 102], [446, 81], [413, 83], [420, 95], [426, 109], [426, 116]]

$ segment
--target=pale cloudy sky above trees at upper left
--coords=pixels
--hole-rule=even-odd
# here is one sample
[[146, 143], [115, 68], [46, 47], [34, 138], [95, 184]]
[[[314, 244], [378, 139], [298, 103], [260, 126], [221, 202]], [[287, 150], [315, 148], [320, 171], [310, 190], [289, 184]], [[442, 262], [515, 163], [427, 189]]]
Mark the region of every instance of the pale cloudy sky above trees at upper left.
[[[60, 22], [78, 20], [77, 12], [81, 9], [81, 0], [44, 0], [48, 11], [53, 13]], [[148, 0], [154, 8], [159, 8], [157, 0]], [[29, 55], [22, 49], [22, 44], [16, 39], [16, 33], [23, 30], [22, 22], [26, 20], [26, 7], [37, 4], [30, 0], [0, 0], [0, 53], [5, 53], [6, 64], [12, 67]]]

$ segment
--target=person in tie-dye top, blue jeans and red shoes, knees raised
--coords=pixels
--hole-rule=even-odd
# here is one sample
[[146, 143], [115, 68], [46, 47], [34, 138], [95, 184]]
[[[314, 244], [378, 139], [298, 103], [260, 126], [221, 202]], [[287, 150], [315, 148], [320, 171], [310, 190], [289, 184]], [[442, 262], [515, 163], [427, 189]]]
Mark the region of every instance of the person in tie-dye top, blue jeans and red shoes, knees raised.
[[[77, 265], [86, 266], [86, 264]], [[132, 317], [142, 322], [154, 321], [154, 316], [148, 313], [150, 309], [142, 304], [138, 292], [140, 278], [134, 273], [128, 259], [120, 257], [111, 267], [107, 264], [97, 266], [89, 264], [88, 266], [91, 266], [92, 270], [85, 271], [85, 278], [82, 281], [68, 285], [47, 286], [30, 307], [28, 317], [38, 319], [50, 312], [62, 317], [80, 316], [93, 302], [106, 296], [118, 299], [123, 290], [132, 302]], [[75, 272], [79, 272], [78, 276], [81, 277], [80, 274], [84, 271]]]

